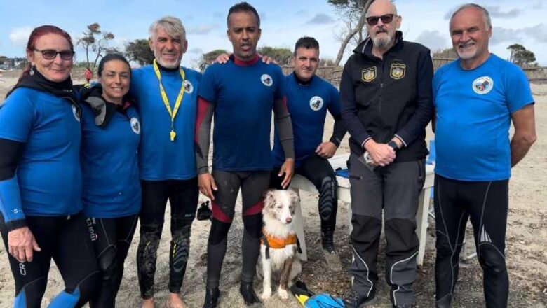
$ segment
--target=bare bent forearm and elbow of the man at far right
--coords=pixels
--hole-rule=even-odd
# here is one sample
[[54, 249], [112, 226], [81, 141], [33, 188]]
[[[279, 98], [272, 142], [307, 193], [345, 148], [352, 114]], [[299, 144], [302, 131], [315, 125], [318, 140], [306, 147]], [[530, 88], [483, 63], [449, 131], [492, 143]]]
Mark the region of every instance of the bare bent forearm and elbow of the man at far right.
[[511, 139], [511, 167], [514, 167], [536, 141], [534, 105], [528, 104], [511, 113], [511, 120], [515, 126], [515, 134]]

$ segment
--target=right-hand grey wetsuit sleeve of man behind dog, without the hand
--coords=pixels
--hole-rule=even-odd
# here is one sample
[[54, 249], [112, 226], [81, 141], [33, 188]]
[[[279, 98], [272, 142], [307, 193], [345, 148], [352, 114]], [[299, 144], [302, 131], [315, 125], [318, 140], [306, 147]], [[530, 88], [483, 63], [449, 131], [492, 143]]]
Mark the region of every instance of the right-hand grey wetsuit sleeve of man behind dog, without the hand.
[[292, 135], [292, 123], [286, 97], [276, 99], [274, 102], [274, 124], [285, 158], [295, 158], [295, 139]]

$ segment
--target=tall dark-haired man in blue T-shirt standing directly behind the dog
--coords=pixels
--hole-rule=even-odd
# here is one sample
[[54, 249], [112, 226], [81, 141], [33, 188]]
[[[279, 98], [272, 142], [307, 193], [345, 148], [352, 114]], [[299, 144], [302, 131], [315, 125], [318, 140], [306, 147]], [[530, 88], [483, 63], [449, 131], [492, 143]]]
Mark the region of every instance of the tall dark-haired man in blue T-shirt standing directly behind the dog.
[[[260, 302], [252, 281], [259, 255], [264, 193], [273, 167], [270, 148], [271, 111], [285, 152], [283, 186], [294, 170], [292, 127], [285, 105], [285, 76], [257, 55], [260, 19], [246, 2], [232, 6], [227, 18], [234, 55], [227, 64], [213, 64], [203, 75], [196, 120], [196, 162], [200, 190], [212, 200], [212, 224], [207, 246], [207, 285], [203, 307], [217, 307], [220, 271], [227, 235], [241, 188], [243, 243], [240, 293], [245, 304]], [[212, 174], [208, 154], [215, 116]]]

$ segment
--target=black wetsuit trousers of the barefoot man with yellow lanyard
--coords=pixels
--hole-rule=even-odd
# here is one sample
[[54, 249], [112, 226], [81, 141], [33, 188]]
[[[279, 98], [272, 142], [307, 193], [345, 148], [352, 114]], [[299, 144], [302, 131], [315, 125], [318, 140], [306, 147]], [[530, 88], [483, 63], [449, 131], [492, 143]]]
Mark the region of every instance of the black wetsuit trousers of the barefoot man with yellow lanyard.
[[180, 293], [190, 251], [190, 228], [198, 207], [198, 179], [141, 181], [140, 241], [137, 273], [141, 297], [154, 297], [156, 258], [166, 203], [171, 206], [169, 291]]

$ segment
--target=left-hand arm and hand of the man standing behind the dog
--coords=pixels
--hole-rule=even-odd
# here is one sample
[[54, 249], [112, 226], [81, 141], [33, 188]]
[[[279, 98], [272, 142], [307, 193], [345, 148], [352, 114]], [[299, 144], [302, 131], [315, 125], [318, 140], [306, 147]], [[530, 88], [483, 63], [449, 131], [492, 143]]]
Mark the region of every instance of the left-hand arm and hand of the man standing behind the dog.
[[196, 117], [196, 132], [194, 141], [196, 144], [196, 167], [198, 169], [198, 186], [203, 195], [215, 200], [212, 190], [217, 190], [215, 179], [209, 173], [208, 158], [211, 141], [212, 114], [215, 105], [202, 97], [198, 97], [198, 115]]

